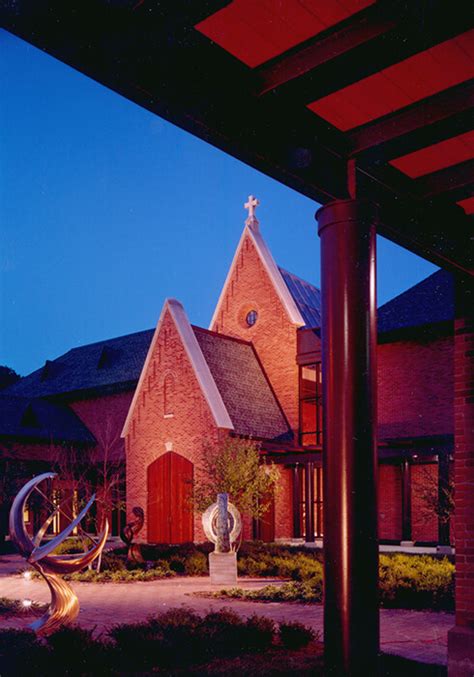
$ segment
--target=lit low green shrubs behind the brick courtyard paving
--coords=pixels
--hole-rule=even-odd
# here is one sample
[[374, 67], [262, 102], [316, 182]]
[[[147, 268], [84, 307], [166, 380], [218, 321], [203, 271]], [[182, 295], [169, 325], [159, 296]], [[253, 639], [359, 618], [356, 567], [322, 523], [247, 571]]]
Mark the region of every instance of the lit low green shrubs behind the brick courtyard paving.
[[[71, 552], [78, 543], [69, 540], [63, 552]], [[122, 583], [151, 581], [169, 576], [207, 576], [211, 544], [181, 546], [142, 546], [143, 564], [128, 562], [126, 548], [104, 553], [100, 573], [86, 570], [66, 578], [73, 581]], [[304, 547], [243, 543], [238, 552], [239, 576], [280, 578], [282, 585], [260, 590], [233, 588], [219, 597], [256, 601], [321, 602], [323, 563], [321, 550]], [[454, 565], [448, 558], [429, 555], [380, 555], [380, 604], [405, 609], [454, 608]]]

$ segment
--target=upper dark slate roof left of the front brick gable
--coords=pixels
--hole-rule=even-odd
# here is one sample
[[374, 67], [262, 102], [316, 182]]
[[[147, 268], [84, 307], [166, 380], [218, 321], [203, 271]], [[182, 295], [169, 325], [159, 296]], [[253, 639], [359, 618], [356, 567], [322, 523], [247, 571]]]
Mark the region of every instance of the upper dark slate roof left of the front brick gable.
[[153, 330], [73, 348], [4, 392], [19, 397], [48, 397], [76, 391], [133, 388], [140, 376]]

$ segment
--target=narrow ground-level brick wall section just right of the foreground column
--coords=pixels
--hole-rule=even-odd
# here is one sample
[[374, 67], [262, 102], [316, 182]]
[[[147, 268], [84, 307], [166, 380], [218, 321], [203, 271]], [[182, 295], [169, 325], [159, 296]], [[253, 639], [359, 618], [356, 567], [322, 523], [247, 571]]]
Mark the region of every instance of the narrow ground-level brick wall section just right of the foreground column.
[[379, 538], [402, 538], [402, 476], [400, 465], [379, 466]]

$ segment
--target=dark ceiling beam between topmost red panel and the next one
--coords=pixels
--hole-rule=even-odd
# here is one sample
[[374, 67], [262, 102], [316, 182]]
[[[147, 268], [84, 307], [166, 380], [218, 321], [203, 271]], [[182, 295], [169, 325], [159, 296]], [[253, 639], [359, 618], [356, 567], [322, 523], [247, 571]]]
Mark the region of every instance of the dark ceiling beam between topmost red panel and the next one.
[[[347, 39], [347, 49], [338, 51], [331, 50], [331, 36], [322, 34], [319, 52], [315, 41], [311, 47], [296, 47], [290, 56], [284, 54], [257, 70], [260, 85], [257, 83], [256, 92], [261, 96], [278, 93], [293, 103], [309, 104], [474, 26], [474, 14], [468, 5], [453, 12], [447, 10], [446, 0], [433, 0], [429, 11], [426, 3], [420, 0], [383, 3], [380, 6], [377, 3], [371, 17], [372, 38], [365, 42], [361, 39], [359, 43], [354, 40], [352, 47]], [[355, 15], [354, 35], [357, 35], [357, 30], [362, 31], [360, 26], [356, 29], [359, 21], [359, 15]], [[390, 22], [394, 22], [392, 28], [389, 28]], [[336, 35], [333, 40], [336, 41]], [[310, 67], [311, 59], [315, 62], [313, 68]]]

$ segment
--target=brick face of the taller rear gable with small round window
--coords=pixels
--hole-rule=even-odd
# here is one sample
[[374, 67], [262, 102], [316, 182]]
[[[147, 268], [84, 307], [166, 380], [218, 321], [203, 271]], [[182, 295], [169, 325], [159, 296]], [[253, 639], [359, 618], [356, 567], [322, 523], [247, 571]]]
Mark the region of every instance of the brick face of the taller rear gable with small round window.
[[[258, 313], [257, 322], [248, 327], [245, 317]], [[298, 428], [298, 369], [296, 365], [296, 327], [276, 293], [253, 242], [242, 242], [237, 265], [221, 303], [214, 331], [252, 341], [277, 398], [294, 431]]]

